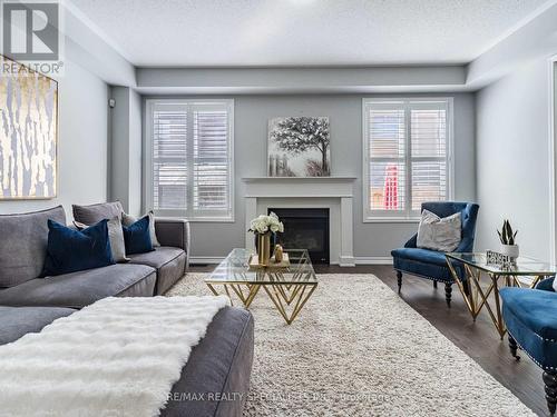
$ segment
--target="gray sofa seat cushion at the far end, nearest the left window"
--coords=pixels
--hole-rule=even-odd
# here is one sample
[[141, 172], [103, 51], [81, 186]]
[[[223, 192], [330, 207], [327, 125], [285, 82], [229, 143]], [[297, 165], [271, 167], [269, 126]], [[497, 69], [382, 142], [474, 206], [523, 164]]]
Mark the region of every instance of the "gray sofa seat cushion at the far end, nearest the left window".
[[147, 254], [130, 255], [130, 264], [147, 265], [157, 270], [156, 294], [163, 295], [186, 271], [186, 252], [179, 248], [159, 246]]

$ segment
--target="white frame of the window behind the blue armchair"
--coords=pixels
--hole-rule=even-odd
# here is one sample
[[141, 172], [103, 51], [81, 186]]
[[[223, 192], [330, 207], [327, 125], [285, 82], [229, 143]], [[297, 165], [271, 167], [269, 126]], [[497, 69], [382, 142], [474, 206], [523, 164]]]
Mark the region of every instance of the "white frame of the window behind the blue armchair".
[[[455, 118], [453, 118], [453, 97], [384, 97], [384, 98], [363, 98], [362, 99], [362, 207], [363, 222], [418, 222], [420, 220], [419, 210], [412, 210], [412, 147], [411, 147], [411, 103], [434, 103], [443, 102], [447, 107], [447, 200], [455, 199]], [[369, 141], [369, 106], [373, 105], [401, 105], [404, 109], [404, 209], [394, 210], [372, 210], [370, 208], [370, 141]], [[393, 160], [395, 158], [392, 158]], [[426, 157], [424, 159], [428, 159]], [[431, 158], [434, 159], [434, 158]]]

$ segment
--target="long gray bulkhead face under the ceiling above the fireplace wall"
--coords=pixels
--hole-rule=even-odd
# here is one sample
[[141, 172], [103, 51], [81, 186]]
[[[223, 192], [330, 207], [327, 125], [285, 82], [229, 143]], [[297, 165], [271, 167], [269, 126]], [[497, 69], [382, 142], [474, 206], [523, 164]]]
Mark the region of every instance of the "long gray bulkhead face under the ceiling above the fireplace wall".
[[465, 91], [466, 66], [137, 67], [137, 90], [153, 95], [273, 95]]

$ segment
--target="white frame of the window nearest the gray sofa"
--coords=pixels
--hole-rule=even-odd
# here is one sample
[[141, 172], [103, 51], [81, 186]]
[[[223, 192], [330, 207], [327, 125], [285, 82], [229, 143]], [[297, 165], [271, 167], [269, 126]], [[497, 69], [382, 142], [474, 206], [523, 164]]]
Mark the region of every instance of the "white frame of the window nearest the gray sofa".
[[[226, 108], [228, 115], [228, 210], [226, 215], [221, 214], [221, 211], [215, 211], [214, 215], [206, 214], [203, 211], [199, 215], [195, 214], [193, 205], [189, 202], [189, 207], [184, 210], [155, 210], [154, 209], [154, 189], [153, 189], [153, 177], [154, 177], [154, 121], [153, 111], [157, 103], [164, 105], [176, 105], [176, 106], [187, 106], [187, 107], [199, 107], [199, 106], [223, 106]], [[188, 119], [192, 116], [188, 113]], [[193, 129], [193, 123], [192, 128]], [[193, 130], [192, 130], [193, 131]], [[194, 156], [189, 152], [193, 146], [188, 146], [188, 155], [186, 158], [188, 160], [188, 166], [192, 163]], [[235, 175], [234, 175], [234, 99], [187, 99], [187, 98], [150, 98], [145, 100], [145, 135], [144, 135], [144, 169], [143, 169], [143, 186], [144, 186], [144, 209], [154, 210], [157, 217], [163, 218], [184, 218], [192, 222], [234, 222], [235, 221]], [[188, 178], [188, 188], [190, 187], [193, 179]], [[193, 189], [190, 190], [193, 192]]]

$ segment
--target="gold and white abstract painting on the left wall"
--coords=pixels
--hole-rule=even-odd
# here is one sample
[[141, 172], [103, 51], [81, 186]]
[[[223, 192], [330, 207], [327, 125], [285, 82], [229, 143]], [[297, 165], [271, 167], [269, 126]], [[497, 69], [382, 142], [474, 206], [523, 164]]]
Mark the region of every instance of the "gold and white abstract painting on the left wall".
[[0, 56], [0, 200], [57, 193], [58, 82]]

